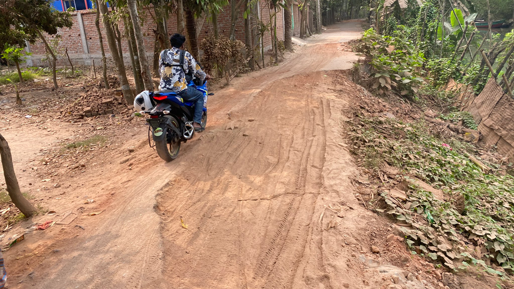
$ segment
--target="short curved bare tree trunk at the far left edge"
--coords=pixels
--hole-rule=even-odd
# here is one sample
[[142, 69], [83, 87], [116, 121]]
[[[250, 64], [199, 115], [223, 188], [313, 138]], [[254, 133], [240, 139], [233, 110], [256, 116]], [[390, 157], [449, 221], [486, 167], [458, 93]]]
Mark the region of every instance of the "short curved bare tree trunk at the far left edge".
[[38, 211], [30, 202], [23, 196], [20, 191], [20, 185], [14, 173], [14, 166], [12, 165], [11, 149], [5, 138], [0, 134], [0, 158], [2, 159], [2, 169], [4, 170], [5, 184], [7, 192], [11, 197], [12, 203], [18, 208], [27, 218]]

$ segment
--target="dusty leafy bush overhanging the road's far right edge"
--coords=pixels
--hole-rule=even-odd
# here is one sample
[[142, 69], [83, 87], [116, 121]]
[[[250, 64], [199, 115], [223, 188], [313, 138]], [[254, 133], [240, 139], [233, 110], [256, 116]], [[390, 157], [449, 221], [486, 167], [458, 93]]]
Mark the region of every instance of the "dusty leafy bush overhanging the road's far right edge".
[[380, 94], [394, 90], [415, 98], [424, 82], [421, 78], [425, 72], [422, 69], [425, 61], [423, 52], [416, 51], [412, 42], [401, 35], [382, 36], [376, 34], [373, 28], [364, 32], [361, 41], [372, 58], [373, 88]]

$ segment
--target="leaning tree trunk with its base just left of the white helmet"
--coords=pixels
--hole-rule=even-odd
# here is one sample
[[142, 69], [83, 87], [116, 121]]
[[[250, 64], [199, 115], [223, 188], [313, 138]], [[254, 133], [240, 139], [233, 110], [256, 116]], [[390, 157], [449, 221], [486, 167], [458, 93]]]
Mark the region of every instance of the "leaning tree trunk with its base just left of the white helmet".
[[[123, 97], [125, 98], [128, 104], [134, 103], [134, 95], [132, 94], [132, 89], [128, 84], [127, 75], [125, 72], [125, 66], [123, 65], [123, 59], [120, 59], [120, 55], [118, 54], [118, 50], [116, 48], [116, 40], [114, 39], [114, 31], [109, 23], [109, 19], [107, 17], [108, 10], [107, 5], [105, 4], [106, 0], [100, 0], [99, 8], [102, 13], [102, 23], [105, 28], [105, 34], [107, 37], [107, 44], [109, 45], [109, 50], [111, 50], [111, 56], [113, 57], [114, 65], [116, 66], [116, 72], [118, 74], [118, 78], [121, 84], [121, 92], [123, 93]], [[123, 56], [121, 56], [123, 57]]]

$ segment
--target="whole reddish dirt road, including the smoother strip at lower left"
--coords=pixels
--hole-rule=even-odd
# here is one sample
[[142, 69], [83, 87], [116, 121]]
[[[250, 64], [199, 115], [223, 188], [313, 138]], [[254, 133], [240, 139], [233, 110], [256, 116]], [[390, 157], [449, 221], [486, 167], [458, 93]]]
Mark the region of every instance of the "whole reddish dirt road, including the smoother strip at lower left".
[[341, 42], [361, 31], [358, 21], [333, 25], [285, 63], [215, 92], [207, 130], [170, 163], [147, 147], [141, 123], [119, 146], [136, 147], [129, 159], [96, 160], [102, 169], [71, 187], [77, 197], [86, 187], [100, 194], [94, 209], [79, 208], [100, 215], [79, 215], [6, 252], [8, 268], [18, 270], [11, 287], [360, 288], [380, 287], [383, 274], [405, 280], [373, 260], [373, 238], [391, 229], [359, 205], [351, 183], [357, 169], [344, 122], [362, 88], [338, 70], [358, 60]]

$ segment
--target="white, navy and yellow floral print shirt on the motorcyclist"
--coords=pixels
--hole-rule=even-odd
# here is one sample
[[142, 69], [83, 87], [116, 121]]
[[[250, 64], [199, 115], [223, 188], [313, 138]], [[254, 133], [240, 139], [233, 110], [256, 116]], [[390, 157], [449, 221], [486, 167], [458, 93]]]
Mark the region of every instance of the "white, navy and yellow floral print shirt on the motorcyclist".
[[201, 70], [193, 56], [186, 51], [184, 53], [183, 69], [180, 69], [180, 49], [164, 49], [159, 56], [159, 89], [169, 89], [179, 93], [187, 88], [186, 74], [192, 73], [197, 78], [204, 80], [206, 74]]

